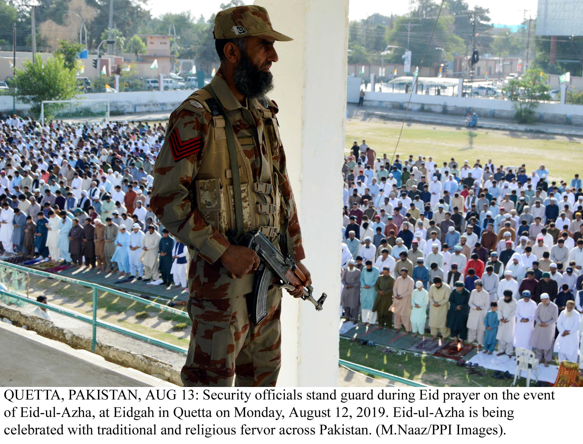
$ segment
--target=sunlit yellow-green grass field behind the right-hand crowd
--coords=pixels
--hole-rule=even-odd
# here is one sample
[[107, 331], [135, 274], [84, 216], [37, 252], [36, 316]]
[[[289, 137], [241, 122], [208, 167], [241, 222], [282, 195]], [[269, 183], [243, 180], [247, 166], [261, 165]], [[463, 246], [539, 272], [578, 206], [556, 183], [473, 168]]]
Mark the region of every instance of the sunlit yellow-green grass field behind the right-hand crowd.
[[[345, 153], [350, 152], [352, 143], [362, 139], [377, 152], [377, 156], [387, 154], [392, 157], [401, 129], [401, 122], [378, 118], [361, 119], [355, 117], [346, 122]], [[470, 166], [480, 159], [482, 164], [492, 159], [494, 165], [526, 165], [526, 173], [544, 164], [549, 169], [551, 179], [570, 180], [581, 171], [583, 138], [555, 136], [528, 132], [472, 129], [466, 127], [405, 123], [396, 154], [406, 159], [409, 154], [417, 159], [421, 154], [433, 157], [438, 166], [454, 157], [463, 165], [468, 160]]]

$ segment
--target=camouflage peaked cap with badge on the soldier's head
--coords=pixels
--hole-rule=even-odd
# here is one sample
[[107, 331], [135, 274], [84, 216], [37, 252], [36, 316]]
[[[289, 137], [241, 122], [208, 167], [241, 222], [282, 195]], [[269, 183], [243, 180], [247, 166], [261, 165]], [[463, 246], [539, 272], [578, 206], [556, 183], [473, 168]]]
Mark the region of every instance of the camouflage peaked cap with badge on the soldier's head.
[[216, 39], [252, 35], [283, 42], [293, 40], [287, 35], [274, 31], [267, 10], [255, 5], [236, 6], [219, 11], [215, 16], [213, 35]]

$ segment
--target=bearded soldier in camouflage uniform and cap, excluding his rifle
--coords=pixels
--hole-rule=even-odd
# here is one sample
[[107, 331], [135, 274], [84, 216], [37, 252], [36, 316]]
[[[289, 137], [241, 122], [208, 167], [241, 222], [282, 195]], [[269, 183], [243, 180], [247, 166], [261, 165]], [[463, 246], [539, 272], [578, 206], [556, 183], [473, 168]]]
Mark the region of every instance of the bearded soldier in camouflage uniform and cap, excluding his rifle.
[[[278, 106], [265, 97], [272, 88], [269, 68], [278, 61], [265, 8], [237, 6], [217, 13], [215, 46], [221, 60], [211, 83], [171, 114], [166, 139], [154, 165], [150, 205], [160, 222], [190, 253], [187, 309], [192, 332], [185, 386], [275, 386], [281, 354], [282, 290], [268, 292], [267, 316], [250, 322], [255, 251], [237, 246], [236, 198], [244, 231], [261, 230], [296, 261], [304, 258], [296, 204], [276, 118]], [[226, 114], [226, 116], [225, 116]], [[240, 187], [233, 186], [229, 145], [236, 141]], [[298, 268], [310, 273], [301, 262]], [[294, 297], [301, 283], [293, 282]]]

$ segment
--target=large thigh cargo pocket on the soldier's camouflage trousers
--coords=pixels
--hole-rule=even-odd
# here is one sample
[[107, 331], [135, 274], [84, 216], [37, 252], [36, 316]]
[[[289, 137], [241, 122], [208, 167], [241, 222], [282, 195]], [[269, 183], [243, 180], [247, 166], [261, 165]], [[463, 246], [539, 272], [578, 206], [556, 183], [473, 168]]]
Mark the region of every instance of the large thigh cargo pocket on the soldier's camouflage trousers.
[[196, 307], [193, 311], [198, 325], [194, 335], [195, 350], [192, 360], [210, 370], [230, 371], [234, 368], [234, 347], [229, 347], [234, 341], [232, 314], [207, 306]]

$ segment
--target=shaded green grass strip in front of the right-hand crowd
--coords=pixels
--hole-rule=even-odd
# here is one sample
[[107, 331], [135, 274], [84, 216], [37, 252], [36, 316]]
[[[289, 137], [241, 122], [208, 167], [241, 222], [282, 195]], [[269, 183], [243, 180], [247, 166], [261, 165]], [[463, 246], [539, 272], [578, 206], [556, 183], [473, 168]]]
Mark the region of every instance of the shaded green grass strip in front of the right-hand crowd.
[[[487, 376], [468, 375], [468, 369], [457, 367], [452, 360], [410, 351], [383, 354], [378, 347], [344, 338], [340, 338], [340, 359], [437, 387], [508, 387], [512, 383], [512, 379], [493, 378], [492, 370], [486, 371]], [[521, 378], [518, 385], [525, 386], [525, 379]]]

